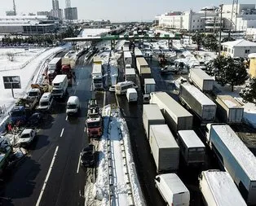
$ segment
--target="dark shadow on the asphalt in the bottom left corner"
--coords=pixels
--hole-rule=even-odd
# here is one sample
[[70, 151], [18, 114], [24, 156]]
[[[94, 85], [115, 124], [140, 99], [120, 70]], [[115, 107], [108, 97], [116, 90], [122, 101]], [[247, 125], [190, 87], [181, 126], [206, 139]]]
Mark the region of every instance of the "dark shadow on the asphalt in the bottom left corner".
[[[19, 166], [20, 162], [23, 166]], [[0, 189], [0, 205], [20, 205], [20, 199], [33, 194], [36, 182], [35, 178], [40, 172], [40, 164], [29, 156], [24, 156], [15, 164], [8, 167], [2, 175], [2, 187]], [[17, 200], [18, 199], [18, 200]]]

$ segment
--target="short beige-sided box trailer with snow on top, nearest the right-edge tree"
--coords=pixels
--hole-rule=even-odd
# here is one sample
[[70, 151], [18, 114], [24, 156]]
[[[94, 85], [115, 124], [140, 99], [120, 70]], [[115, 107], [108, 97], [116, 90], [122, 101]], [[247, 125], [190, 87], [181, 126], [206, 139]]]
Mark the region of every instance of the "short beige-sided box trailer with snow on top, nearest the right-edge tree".
[[217, 114], [226, 123], [241, 123], [244, 107], [230, 95], [217, 95]]

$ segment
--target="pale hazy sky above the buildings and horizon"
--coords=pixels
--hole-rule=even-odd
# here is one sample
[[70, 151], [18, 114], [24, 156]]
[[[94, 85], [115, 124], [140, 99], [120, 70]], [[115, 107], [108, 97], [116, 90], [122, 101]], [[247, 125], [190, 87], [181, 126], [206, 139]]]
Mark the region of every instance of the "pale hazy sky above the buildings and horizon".
[[[155, 15], [167, 11], [199, 11], [201, 7], [232, 4], [232, 0], [71, 0], [71, 7], [77, 7], [79, 20], [111, 20], [113, 22], [130, 20], [154, 20]], [[15, 0], [17, 15], [37, 14], [37, 11], [51, 11], [51, 0]], [[255, 0], [240, 0], [239, 3], [256, 4]], [[59, 0], [64, 9], [65, 0]], [[2, 1], [0, 15], [13, 9], [12, 1]]]

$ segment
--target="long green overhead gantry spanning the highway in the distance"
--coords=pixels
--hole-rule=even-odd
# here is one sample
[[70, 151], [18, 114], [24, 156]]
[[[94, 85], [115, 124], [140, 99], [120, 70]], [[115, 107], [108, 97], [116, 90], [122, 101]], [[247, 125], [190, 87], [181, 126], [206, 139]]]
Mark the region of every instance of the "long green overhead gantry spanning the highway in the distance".
[[174, 39], [181, 39], [182, 34], [180, 33], [171, 33], [171, 34], [163, 34], [163, 35], [106, 35], [99, 37], [68, 37], [64, 38], [64, 42], [91, 42], [91, 45], [95, 45], [96, 42], [99, 41], [111, 41], [111, 48], [114, 48], [116, 42], [119, 40], [128, 40], [134, 42], [135, 40], [167, 40], [168, 46], [172, 46], [172, 41]]

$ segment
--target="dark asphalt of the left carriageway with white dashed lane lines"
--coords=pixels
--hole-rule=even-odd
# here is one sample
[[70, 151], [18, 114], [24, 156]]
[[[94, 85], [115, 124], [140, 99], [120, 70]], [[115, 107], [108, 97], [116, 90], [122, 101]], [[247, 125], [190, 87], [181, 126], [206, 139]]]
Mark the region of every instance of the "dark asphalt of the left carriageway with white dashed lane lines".
[[5, 177], [0, 205], [84, 205], [86, 173], [78, 164], [82, 147], [88, 143], [84, 125], [91, 96], [91, 65], [80, 60], [75, 71], [76, 82], [68, 94], [81, 101], [78, 116], [66, 120], [67, 99], [55, 104], [29, 155]]

